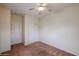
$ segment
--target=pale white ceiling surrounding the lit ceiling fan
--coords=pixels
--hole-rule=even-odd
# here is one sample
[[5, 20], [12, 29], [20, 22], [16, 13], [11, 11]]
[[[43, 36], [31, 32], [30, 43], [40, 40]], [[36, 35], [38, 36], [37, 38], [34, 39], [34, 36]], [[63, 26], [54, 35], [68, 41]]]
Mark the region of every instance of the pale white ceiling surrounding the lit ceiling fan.
[[36, 3], [3, 3], [4, 5], [12, 10], [13, 13], [17, 14], [31, 14], [33, 16], [44, 16], [48, 15], [49, 13], [58, 12], [70, 5], [71, 3], [48, 3], [48, 9], [51, 10], [50, 12], [43, 12], [41, 15], [38, 14], [38, 11], [31, 11], [30, 8], [34, 7]]

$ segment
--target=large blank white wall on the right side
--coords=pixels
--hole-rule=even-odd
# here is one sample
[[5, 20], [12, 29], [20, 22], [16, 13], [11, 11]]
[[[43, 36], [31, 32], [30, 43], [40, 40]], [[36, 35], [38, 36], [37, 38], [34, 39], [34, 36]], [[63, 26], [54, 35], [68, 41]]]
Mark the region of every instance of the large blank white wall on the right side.
[[79, 5], [40, 19], [41, 41], [79, 55]]

